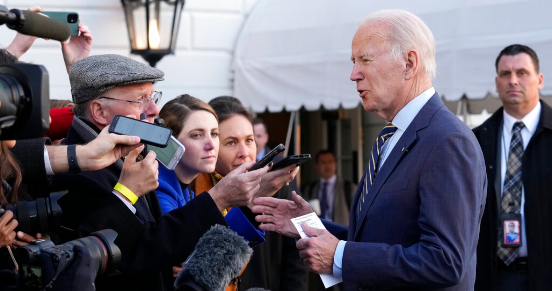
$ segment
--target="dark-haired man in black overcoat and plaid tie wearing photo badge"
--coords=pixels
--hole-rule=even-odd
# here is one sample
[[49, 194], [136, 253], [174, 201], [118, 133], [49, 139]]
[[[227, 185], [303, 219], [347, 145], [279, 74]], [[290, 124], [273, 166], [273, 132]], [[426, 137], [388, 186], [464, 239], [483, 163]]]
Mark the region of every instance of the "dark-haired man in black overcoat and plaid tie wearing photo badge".
[[[503, 107], [474, 129], [489, 178], [475, 290], [550, 290], [552, 108], [539, 101], [544, 77], [530, 47], [507, 46], [495, 66], [496, 91]], [[514, 185], [517, 188], [512, 191]], [[508, 231], [505, 216], [518, 218], [521, 245], [502, 243]]]

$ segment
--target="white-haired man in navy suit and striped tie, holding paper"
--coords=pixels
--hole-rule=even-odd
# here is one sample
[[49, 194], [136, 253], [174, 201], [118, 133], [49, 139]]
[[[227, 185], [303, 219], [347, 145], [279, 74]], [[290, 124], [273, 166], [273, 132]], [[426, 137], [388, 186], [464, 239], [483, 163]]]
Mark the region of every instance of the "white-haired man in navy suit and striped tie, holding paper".
[[[374, 143], [353, 199], [349, 226], [303, 224], [299, 254], [344, 290], [470, 290], [485, 207], [485, 162], [475, 136], [432, 87], [435, 42], [404, 10], [364, 19], [352, 41], [351, 80], [364, 109], [389, 121]], [[382, 147], [383, 144], [383, 147]], [[257, 198], [264, 230], [299, 237], [289, 218], [310, 213], [293, 201]]]

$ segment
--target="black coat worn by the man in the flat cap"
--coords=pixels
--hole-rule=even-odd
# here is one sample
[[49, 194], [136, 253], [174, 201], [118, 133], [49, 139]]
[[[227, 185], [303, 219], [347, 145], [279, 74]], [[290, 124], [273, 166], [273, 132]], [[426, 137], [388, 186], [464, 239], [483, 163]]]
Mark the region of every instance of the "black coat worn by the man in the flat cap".
[[[77, 123], [77, 124], [76, 124]], [[93, 138], [83, 133], [75, 118], [67, 144]], [[77, 130], [76, 130], [77, 128]], [[85, 136], [84, 138], [82, 136]], [[227, 225], [209, 194], [200, 194], [184, 207], [161, 215], [155, 192], [135, 204], [136, 215], [112, 193], [120, 175], [120, 162], [103, 170], [55, 175], [53, 183], [69, 193], [59, 200], [65, 239], [113, 229], [122, 259], [120, 275], [98, 278], [97, 290], [172, 290], [172, 266], [185, 261], [199, 238], [215, 224]]]

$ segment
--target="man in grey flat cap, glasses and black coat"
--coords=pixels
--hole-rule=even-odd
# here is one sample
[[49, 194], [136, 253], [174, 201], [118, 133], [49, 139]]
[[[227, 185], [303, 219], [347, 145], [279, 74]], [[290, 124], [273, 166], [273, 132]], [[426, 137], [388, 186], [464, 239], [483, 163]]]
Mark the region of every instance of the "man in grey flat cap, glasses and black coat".
[[[125, 56], [95, 55], [75, 62], [69, 77], [76, 106], [65, 139], [68, 145], [91, 141], [117, 114], [140, 117], [145, 113], [152, 122], [159, 113], [161, 92], [155, 91], [152, 82], [162, 81], [163, 72], [156, 68]], [[211, 226], [227, 225], [222, 209], [250, 203], [268, 171], [266, 167], [246, 172], [245, 166], [240, 167], [218, 189], [162, 215], [154, 191], [158, 186], [155, 153], [150, 151], [137, 161], [140, 150], [103, 170], [54, 177], [54, 184], [68, 189], [59, 200], [61, 228], [66, 230], [62, 239], [102, 229], [118, 232], [120, 274], [97, 278], [97, 290], [173, 290], [172, 266], [185, 261]], [[73, 170], [78, 172], [78, 161]], [[232, 204], [225, 202], [227, 197], [241, 200]]]

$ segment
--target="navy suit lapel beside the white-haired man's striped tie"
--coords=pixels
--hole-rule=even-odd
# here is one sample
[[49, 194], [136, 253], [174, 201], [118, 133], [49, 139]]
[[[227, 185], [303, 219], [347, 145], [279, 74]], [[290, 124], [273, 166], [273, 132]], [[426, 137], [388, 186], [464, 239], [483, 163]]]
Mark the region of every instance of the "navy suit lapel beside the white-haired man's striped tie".
[[[420, 112], [418, 112], [416, 117], [412, 120], [408, 128], [402, 134], [400, 140], [397, 142], [389, 156], [386, 158], [385, 163], [383, 164], [383, 166], [381, 166], [380, 170], [376, 174], [374, 183], [370, 187], [370, 191], [365, 198], [367, 200], [364, 202], [364, 204], [368, 206], [364, 207], [359, 213], [359, 219], [355, 225], [355, 239], [358, 236], [360, 229], [362, 229], [362, 225], [364, 224], [364, 220], [366, 219], [366, 214], [370, 210], [371, 205], [374, 203], [374, 199], [379, 194], [381, 187], [384, 185], [385, 181], [387, 181], [393, 170], [402, 160], [402, 157], [404, 157], [408, 153], [408, 151], [413, 146], [415, 146], [417, 131], [426, 128], [429, 125], [429, 120], [437, 111], [437, 109], [441, 106], [443, 106], [443, 102], [440, 100], [439, 95], [437, 93], [433, 94], [433, 96], [427, 101], [427, 103], [423, 105]], [[363, 177], [365, 177], [365, 175]], [[361, 183], [364, 183], [364, 179], [363, 181], [361, 181]], [[356, 195], [358, 195], [358, 191], [357, 194], [355, 194], [355, 197]], [[358, 211], [358, 206], [356, 206], [358, 205], [358, 198], [356, 198], [355, 201], [357, 203], [354, 204], [355, 209]], [[351, 224], [351, 222], [349, 222], [349, 224]]]

